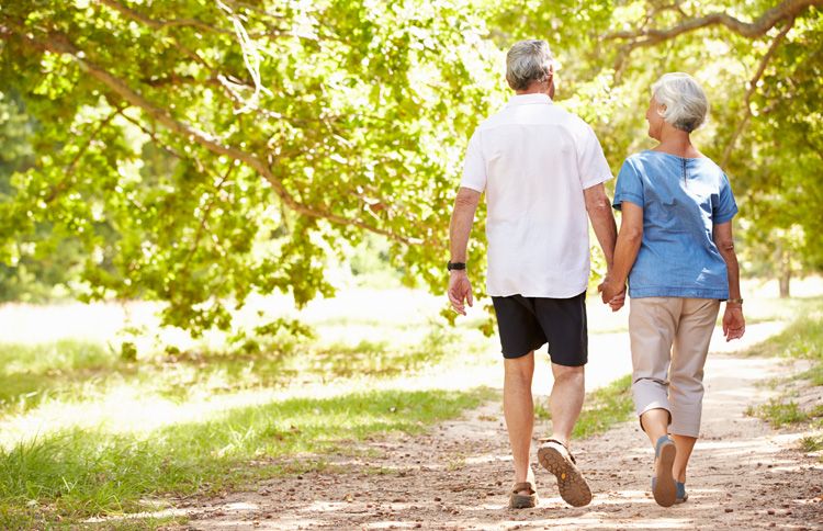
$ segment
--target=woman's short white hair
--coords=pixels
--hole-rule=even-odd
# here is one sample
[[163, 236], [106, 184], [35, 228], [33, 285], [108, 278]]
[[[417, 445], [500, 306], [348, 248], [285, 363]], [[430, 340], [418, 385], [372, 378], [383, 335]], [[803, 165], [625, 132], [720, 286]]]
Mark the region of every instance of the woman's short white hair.
[[666, 106], [665, 111], [658, 111], [663, 120], [686, 133], [700, 127], [709, 111], [709, 100], [700, 83], [684, 72], [664, 74], [652, 84], [652, 98]]

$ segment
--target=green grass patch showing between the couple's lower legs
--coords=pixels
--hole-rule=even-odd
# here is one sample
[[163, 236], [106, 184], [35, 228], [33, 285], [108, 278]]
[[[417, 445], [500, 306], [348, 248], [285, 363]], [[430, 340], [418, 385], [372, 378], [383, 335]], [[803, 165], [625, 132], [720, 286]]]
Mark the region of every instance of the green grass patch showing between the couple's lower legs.
[[[572, 436], [575, 439], [585, 439], [604, 433], [616, 423], [631, 419], [634, 410], [631, 384], [631, 374], [627, 374], [606, 387], [588, 393]], [[552, 418], [551, 413], [542, 404], [534, 405], [534, 416], [542, 421]]]

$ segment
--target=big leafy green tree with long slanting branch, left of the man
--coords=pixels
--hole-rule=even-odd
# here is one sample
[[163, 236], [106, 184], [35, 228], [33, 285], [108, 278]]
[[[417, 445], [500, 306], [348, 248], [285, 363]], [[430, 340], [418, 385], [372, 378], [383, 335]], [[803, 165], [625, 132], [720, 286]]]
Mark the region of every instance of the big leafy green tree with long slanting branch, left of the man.
[[363, 230], [439, 282], [462, 145], [497, 82], [464, 7], [3, 7], [2, 76], [41, 128], [0, 258], [48, 224], [80, 238], [92, 297], [167, 301], [195, 332], [251, 292], [330, 293], [325, 257]]

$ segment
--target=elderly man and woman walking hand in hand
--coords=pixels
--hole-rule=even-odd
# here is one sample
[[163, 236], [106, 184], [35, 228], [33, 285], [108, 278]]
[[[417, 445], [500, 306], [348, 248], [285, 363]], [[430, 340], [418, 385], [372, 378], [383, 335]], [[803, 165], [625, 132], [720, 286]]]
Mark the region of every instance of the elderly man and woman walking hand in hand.
[[[708, 102], [685, 74], [652, 86], [645, 117], [651, 150], [611, 171], [591, 128], [552, 103], [553, 60], [543, 41], [517, 43], [506, 57], [516, 95], [472, 136], [450, 227], [449, 300], [465, 315], [472, 287], [465, 257], [481, 195], [487, 202], [487, 291], [504, 357], [504, 416], [515, 464], [511, 508], [534, 507], [530, 466], [534, 351], [549, 344], [554, 384], [551, 437], [538, 449], [561, 497], [585, 506], [591, 492], [570, 452], [583, 406], [587, 362], [588, 219], [607, 273], [602, 302], [617, 312], [629, 282], [632, 391], [640, 426], [655, 451], [657, 504], [687, 499], [686, 468], [700, 431], [703, 365], [725, 301], [726, 340], [745, 329], [732, 217], [737, 206], [723, 171], [691, 144]], [[618, 233], [611, 207], [621, 211]]]

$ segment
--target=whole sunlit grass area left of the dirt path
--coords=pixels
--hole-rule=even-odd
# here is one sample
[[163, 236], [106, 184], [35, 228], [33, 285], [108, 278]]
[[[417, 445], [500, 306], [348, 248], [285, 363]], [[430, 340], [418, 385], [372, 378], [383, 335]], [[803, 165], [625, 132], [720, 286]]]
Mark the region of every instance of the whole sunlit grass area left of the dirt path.
[[[492, 396], [487, 389], [370, 391], [369, 382], [439, 363], [456, 348], [458, 335], [417, 318], [363, 325], [363, 336], [320, 327], [319, 336], [357, 336], [353, 342], [252, 337], [253, 344], [234, 350], [140, 350], [136, 361], [88, 341], [0, 343], [0, 421], [8, 427], [0, 433], [0, 529], [72, 524], [146, 510], [146, 500], [168, 495], [217, 493], [309, 470], [336, 472], [335, 456], [364, 453], [358, 441], [419, 432]], [[158, 415], [179, 415], [232, 404], [241, 393], [273, 400], [272, 389], [289, 397], [290, 389], [327, 382], [337, 396], [277, 399], [129, 431], [139, 427], [129, 427], [128, 408], [140, 404], [162, 408]], [[121, 396], [135, 398], [123, 403]], [[31, 439], [26, 422], [36, 425], [49, 411], [59, 411], [70, 428]], [[102, 423], [87, 420], [87, 411]], [[164, 522], [170, 521], [123, 519], [99, 527], [153, 529]]]

